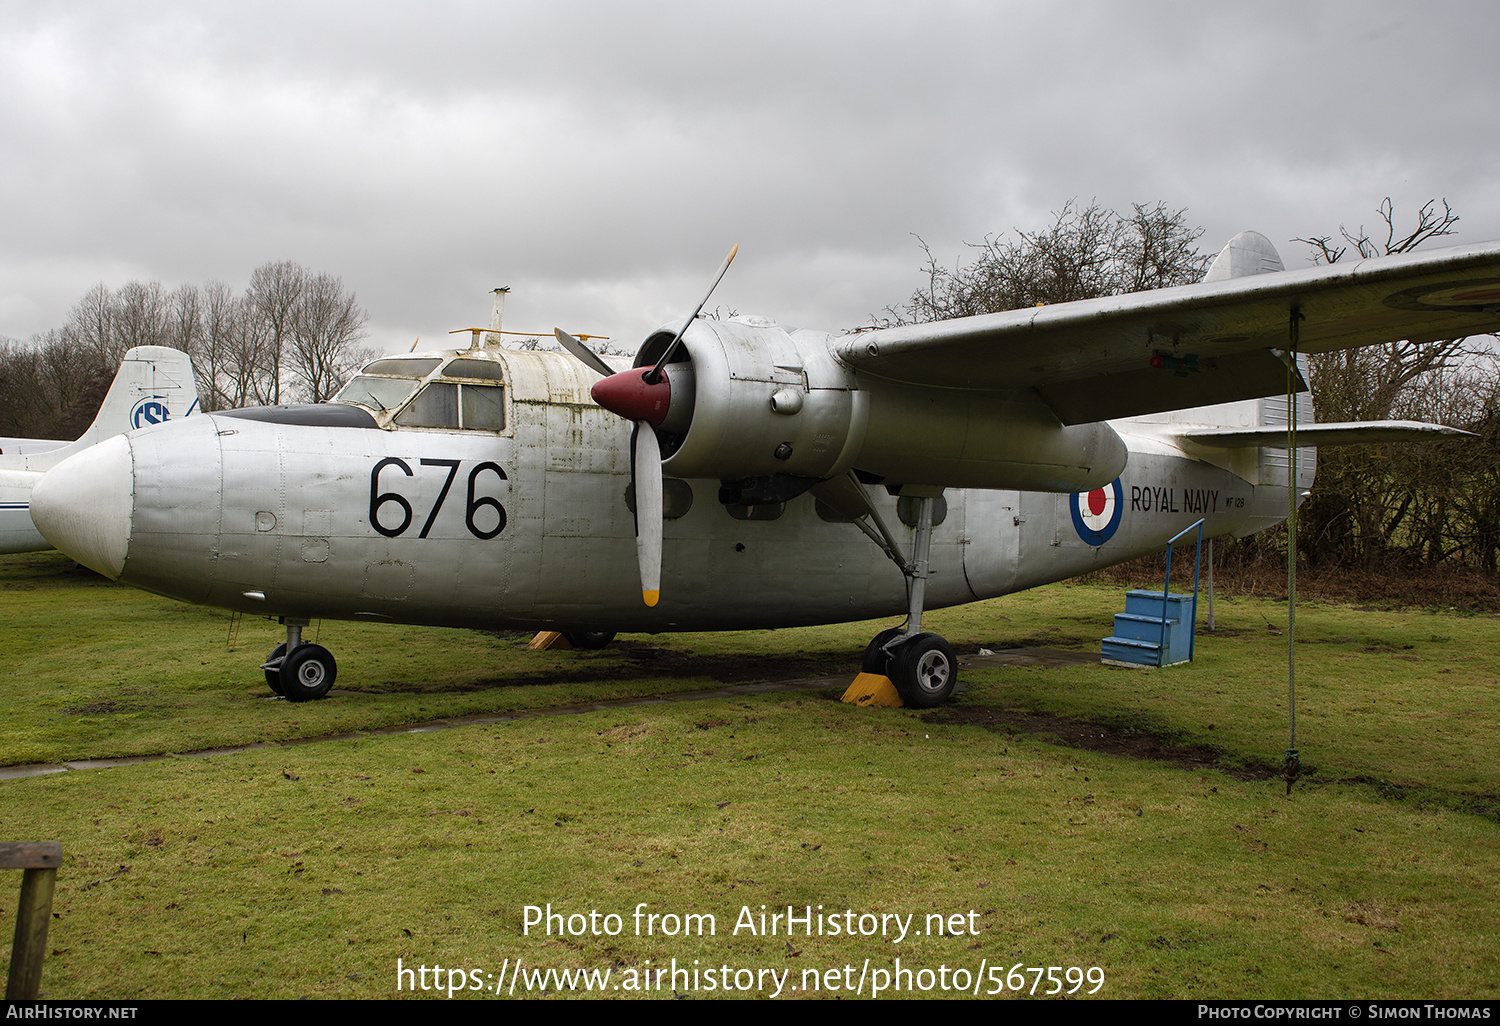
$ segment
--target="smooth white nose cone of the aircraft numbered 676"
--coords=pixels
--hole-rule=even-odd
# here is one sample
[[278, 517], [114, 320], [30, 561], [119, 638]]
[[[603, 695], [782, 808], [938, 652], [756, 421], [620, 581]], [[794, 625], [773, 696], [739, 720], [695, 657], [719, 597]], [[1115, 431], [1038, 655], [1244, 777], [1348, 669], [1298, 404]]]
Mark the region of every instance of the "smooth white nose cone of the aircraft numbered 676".
[[116, 435], [42, 476], [32, 489], [32, 522], [58, 550], [118, 579], [130, 546], [134, 504], [130, 442]]

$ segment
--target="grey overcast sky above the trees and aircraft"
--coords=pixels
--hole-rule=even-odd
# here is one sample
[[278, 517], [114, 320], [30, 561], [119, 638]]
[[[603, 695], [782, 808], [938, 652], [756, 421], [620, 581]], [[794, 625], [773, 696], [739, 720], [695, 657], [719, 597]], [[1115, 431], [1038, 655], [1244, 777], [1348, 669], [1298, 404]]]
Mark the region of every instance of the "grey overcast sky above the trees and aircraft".
[[294, 260], [372, 342], [616, 336], [714, 304], [846, 328], [921, 278], [914, 232], [1070, 198], [1186, 207], [1216, 250], [1446, 196], [1500, 238], [1494, 3], [10, 3], [0, 334], [98, 282]]

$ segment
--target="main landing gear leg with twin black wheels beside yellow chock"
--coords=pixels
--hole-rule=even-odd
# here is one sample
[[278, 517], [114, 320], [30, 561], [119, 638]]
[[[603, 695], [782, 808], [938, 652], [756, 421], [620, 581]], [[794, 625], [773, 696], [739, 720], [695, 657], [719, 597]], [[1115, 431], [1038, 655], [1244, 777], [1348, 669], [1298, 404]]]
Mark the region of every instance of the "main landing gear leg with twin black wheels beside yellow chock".
[[908, 579], [906, 626], [876, 634], [864, 650], [864, 672], [888, 676], [902, 700], [914, 708], [946, 702], [958, 684], [958, 660], [939, 634], [922, 633], [922, 602], [930, 574], [933, 500], [921, 496], [912, 561], [902, 567]]

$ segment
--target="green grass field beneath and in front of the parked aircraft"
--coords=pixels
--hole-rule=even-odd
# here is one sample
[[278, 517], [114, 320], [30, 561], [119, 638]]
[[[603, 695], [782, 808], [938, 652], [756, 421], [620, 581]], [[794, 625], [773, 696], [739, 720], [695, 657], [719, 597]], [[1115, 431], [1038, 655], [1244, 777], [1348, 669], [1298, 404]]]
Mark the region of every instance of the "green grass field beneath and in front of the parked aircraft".
[[[462, 986], [458, 999], [512, 980], [536, 996], [560, 987], [534, 970], [586, 969], [609, 970], [592, 980], [608, 996], [712, 998], [726, 976], [752, 994], [780, 981], [782, 998], [846, 994], [862, 976], [868, 994], [884, 972], [898, 996], [930, 998], [1038, 976], [1044, 993], [1058, 966], [1062, 990], [1102, 970], [1104, 998], [1496, 998], [1490, 616], [1300, 606], [1308, 776], [1287, 798], [1264, 771], [1287, 744], [1274, 602], [1221, 597], [1191, 666], [978, 669], [927, 714], [814, 690], [376, 735], [360, 732], [852, 676], [885, 624], [526, 652], [520, 638], [327, 622], [348, 693], [298, 706], [260, 681], [274, 624], [231, 634], [225, 614], [56, 555], [9, 556], [0, 582], [0, 764], [354, 734], [0, 780], [0, 840], [63, 843], [44, 996]], [[1120, 588], [1059, 585], [927, 622], [960, 654], [1096, 651], [1120, 608]], [[0, 924], [20, 874], [4, 879]], [[582, 932], [528, 930], [526, 906], [548, 903]], [[900, 940], [818, 936], [816, 921], [813, 936], [768, 936], [741, 920], [762, 904], [820, 904], [856, 928], [912, 918]], [[696, 918], [704, 934], [686, 936], [688, 914], [712, 933]], [[398, 960], [426, 972], [399, 976]]]

